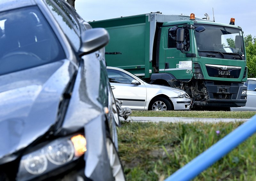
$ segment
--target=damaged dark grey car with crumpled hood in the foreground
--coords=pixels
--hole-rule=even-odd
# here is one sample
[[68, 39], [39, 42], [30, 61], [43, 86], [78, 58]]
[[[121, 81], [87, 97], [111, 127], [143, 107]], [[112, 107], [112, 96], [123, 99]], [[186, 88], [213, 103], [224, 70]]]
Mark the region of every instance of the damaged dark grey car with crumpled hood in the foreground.
[[0, 27], [0, 180], [125, 180], [107, 31], [62, 0], [1, 0]]

